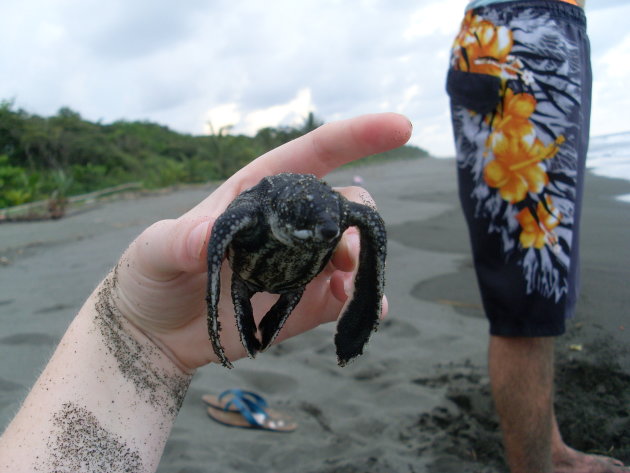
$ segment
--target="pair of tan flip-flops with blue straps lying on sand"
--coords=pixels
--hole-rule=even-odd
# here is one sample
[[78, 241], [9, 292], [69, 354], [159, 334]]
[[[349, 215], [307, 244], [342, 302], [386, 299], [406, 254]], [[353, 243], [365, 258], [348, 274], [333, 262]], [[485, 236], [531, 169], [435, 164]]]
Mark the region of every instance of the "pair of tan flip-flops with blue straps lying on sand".
[[209, 404], [208, 415], [219, 424], [243, 429], [293, 432], [297, 424], [287, 415], [267, 409], [267, 402], [258, 394], [229, 389], [219, 396], [202, 396]]

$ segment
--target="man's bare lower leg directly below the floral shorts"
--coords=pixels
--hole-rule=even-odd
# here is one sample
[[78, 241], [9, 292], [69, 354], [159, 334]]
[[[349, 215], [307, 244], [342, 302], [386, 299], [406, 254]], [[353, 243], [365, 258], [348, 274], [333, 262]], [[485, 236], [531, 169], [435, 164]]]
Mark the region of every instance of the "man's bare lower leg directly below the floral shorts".
[[512, 473], [552, 473], [554, 338], [490, 337], [488, 367]]

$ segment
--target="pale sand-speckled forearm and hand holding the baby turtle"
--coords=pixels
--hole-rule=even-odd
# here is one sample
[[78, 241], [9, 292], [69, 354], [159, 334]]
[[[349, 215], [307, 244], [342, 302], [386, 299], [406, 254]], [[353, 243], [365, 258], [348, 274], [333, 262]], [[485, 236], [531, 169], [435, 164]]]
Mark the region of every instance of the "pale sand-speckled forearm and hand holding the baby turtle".
[[[410, 136], [409, 120], [391, 113], [324, 125], [256, 159], [180, 218], [144, 231], [88, 297], [0, 437], [0, 472], [155, 471], [192, 374], [217, 363], [204, 299], [206, 245], [216, 217], [266, 175], [322, 177], [347, 162], [402, 146]], [[340, 191], [373, 204], [362, 189]], [[358, 235], [349, 229], [277, 342], [338, 318], [358, 251]], [[230, 276], [229, 265], [223, 265], [222, 278]], [[219, 306], [222, 342], [228, 357], [237, 360], [245, 352], [229, 291], [225, 295]], [[274, 299], [254, 297], [257, 320]], [[386, 301], [383, 308], [386, 312]]]

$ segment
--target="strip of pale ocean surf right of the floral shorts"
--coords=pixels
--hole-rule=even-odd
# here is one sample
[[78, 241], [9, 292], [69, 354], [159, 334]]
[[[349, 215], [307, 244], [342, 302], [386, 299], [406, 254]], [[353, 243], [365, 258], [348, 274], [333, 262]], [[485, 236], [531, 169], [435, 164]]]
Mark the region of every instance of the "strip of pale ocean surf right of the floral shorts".
[[[591, 136], [586, 166], [598, 176], [630, 181], [630, 131]], [[618, 198], [630, 202], [630, 194]]]

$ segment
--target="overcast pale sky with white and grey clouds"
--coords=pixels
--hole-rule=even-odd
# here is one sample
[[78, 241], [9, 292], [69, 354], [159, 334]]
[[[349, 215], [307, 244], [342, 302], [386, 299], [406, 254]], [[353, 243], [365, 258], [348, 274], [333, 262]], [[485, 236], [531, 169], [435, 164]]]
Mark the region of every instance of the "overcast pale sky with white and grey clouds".
[[[0, 100], [201, 134], [396, 111], [453, 154], [444, 78], [466, 0], [1, 0]], [[630, 130], [630, 2], [588, 0], [593, 136]]]

